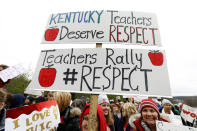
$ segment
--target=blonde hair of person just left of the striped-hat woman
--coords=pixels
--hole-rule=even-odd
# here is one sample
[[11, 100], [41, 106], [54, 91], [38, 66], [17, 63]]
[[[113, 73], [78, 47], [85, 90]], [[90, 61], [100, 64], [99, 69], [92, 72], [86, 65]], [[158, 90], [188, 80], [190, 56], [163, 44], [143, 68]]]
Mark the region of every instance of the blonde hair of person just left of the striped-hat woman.
[[132, 104], [131, 102], [125, 103], [123, 105], [123, 109], [124, 109], [127, 117], [130, 117], [131, 115], [137, 113], [137, 109], [136, 109], [135, 105]]

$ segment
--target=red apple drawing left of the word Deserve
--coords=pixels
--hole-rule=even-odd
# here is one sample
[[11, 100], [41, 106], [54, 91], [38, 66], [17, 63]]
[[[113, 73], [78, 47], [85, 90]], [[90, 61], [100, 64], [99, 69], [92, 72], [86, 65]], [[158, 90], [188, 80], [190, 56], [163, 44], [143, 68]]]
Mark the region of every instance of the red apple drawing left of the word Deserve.
[[45, 31], [44, 38], [46, 41], [54, 41], [58, 35], [59, 28], [50, 27]]

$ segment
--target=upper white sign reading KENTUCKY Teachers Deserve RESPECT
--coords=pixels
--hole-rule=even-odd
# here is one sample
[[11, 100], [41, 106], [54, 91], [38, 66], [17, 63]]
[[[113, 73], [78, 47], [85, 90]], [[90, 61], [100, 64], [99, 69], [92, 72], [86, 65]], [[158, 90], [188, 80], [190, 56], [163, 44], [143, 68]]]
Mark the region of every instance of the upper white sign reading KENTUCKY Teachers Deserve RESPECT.
[[50, 15], [42, 43], [79, 42], [161, 46], [152, 13], [95, 10]]

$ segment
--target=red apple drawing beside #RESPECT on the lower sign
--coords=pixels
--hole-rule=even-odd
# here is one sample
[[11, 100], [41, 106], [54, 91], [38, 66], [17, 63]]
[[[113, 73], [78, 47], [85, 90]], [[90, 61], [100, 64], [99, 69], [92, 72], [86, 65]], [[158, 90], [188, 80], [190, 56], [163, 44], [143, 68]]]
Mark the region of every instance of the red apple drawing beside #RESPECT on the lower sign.
[[55, 68], [42, 68], [39, 73], [39, 83], [42, 87], [49, 87], [53, 85], [56, 77]]

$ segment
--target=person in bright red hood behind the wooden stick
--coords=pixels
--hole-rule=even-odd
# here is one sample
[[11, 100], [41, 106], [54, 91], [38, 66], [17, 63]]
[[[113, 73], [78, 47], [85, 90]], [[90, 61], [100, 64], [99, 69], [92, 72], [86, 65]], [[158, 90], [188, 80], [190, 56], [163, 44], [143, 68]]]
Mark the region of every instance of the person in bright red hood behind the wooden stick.
[[[81, 131], [88, 131], [88, 117], [90, 112], [90, 104], [87, 104], [80, 117], [80, 128]], [[103, 109], [100, 105], [97, 105], [97, 119], [96, 122], [96, 131], [110, 131], [110, 128], [108, 127], [105, 116], [103, 113]]]

